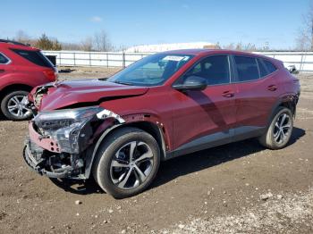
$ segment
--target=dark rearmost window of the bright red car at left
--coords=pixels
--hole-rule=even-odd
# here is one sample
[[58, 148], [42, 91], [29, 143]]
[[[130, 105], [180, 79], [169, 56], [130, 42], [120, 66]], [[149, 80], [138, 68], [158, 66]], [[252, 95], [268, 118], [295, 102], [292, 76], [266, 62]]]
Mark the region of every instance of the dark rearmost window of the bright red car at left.
[[46, 58], [44, 54], [41, 54], [40, 51], [34, 50], [21, 50], [21, 49], [12, 49], [13, 52], [19, 54], [24, 59], [27, 59], [31, 63], [35, 63], [38, 66], [52, 68], [53, 64]]

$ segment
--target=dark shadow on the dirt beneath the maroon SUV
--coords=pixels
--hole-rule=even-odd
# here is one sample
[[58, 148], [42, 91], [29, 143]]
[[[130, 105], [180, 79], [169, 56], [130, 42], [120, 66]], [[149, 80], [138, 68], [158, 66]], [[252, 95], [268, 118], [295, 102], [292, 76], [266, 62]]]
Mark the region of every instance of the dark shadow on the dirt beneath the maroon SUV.
[[[294, 127], [292, 130], [292, 138], [286, 147], [296, 143], [297, 140], [302, 138], [305, 134], [305, 130]], [[262, 150], [265, 150], [265, 148], [258, 144], [258, 140], [256, 138], [251, 138], [224, 146], [202, 150], [190, 155], [173, 158], [161, 163], [157, 178], [150, 188], [157, 188], [158, 186], [171, 180], [175, 180], [183, 175], [202, 171], [220, 163], [229, 162], [247, 155], [258, 153]], [[51, 179], [51, 181], [64, 191], [74, 194], [89, 195], [104, 193], [101, 188], [98, 187], [97, 182], [92, 178], [81, 181], [56, 179]]]

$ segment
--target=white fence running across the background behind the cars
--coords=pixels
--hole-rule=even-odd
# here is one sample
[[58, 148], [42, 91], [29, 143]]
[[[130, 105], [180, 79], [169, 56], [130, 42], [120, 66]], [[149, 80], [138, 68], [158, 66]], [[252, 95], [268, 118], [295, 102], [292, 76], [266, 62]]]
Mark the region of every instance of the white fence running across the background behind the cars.
[[[56, 64], [63, 66], [125, 67], [151, 53], [113, 53], [81, 51], [43, 51], [55, 55]], [[295, 65], [300, 72], [313, 72], [313, 52], [255, 52], [283, 61], [284, 65]]]

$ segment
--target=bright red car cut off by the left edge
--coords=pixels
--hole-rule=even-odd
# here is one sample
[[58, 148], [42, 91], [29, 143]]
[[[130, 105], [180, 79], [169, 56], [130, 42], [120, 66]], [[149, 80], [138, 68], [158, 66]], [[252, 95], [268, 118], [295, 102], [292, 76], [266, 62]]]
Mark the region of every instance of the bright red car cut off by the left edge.
[[30, 118], [25, 97], [32, 88], [55, 79], [54, 65], [37, 48], [0, 39], [0, 102], [6, 118]]

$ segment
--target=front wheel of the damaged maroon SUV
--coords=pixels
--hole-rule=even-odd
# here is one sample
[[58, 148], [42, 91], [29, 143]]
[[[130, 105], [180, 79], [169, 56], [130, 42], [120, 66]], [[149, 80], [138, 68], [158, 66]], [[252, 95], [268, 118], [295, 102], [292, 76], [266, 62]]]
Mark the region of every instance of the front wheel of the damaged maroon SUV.
[[137, 128], [115, 130], [99, 147], [93, 176], [115, 198], [134, 196], [148, 188], [157, 175], [157, 141]]

